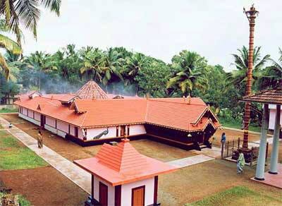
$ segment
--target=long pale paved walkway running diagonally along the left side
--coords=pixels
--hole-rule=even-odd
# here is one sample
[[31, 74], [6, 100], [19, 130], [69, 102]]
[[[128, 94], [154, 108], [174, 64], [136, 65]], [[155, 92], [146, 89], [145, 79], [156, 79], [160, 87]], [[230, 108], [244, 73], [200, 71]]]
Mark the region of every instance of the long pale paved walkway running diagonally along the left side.
[[[9, 123], [0, 117], [0, 124], [4, 128], [8, 128]], [[60, 171], [61, 174], [73, 181], [73, 183], [80, 186], [80, 188], [85, 190], [87, 193], [91, 193], [91, 175], [87, 171], [81, 169], [79, 166], [76, 166], [73, 162], [62, 157], [60, 154], [54, 152], [45, 145], [42, 149], [39, 149], [37, 147], [37, 140], [32, 138], [30, 135], [27, 135], [27, 133], [21, 131], [16, 126], [13, 126], [13, 128], [7, 129], [6, 131], [11, 133], [24, 145], [29, 147], [30, 150], [38, 154], [39, 157], [42, 157], [46, 162], [51, 164], [51, 166]]]

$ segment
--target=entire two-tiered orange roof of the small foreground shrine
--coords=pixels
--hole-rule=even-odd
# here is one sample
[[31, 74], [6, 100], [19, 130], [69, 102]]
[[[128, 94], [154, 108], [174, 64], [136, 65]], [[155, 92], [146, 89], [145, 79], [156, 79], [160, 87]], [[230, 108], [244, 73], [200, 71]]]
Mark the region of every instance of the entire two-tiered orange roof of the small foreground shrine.
[[104, 144], [96, 157], [74, 162], [82, 169], [104, 179], [111, 186], [176, 171], [176, 168], [169, 164], [140, 154], [127, 139], [116, 146]]

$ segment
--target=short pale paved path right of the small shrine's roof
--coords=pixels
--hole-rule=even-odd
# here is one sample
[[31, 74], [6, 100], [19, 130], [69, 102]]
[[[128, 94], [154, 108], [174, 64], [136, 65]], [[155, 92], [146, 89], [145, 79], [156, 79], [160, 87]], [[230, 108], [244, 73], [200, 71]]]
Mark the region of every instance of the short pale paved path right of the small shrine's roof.
[[198, 154], [196, 156], [192, 156], [192, 157], [186, 157], [186, 158], [182, 158], [182, 159], [176, 159], [170, 162], [166, 162], [168, 164], [170, 164], [171, 166], [176, 166], [178, 168], [181, 167], [185, 167], [185, 166], [191, 166], [193, 164], [199, 164], [202, 162], [207, 162], [210, 160], [214, 160], [213, 157], [208, 157], [206, 155], [203, 154]]

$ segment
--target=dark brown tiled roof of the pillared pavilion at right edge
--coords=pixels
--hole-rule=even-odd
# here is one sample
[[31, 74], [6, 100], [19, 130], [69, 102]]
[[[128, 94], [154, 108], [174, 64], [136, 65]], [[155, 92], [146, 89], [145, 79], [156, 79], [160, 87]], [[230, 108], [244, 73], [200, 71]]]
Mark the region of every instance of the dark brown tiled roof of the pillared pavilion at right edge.
[[260, 102], [267, 104], [282, 104], [282, 89], [281, 87], [274, 90], [263, 90], [257, 94], [245, 96], [243, 102]]

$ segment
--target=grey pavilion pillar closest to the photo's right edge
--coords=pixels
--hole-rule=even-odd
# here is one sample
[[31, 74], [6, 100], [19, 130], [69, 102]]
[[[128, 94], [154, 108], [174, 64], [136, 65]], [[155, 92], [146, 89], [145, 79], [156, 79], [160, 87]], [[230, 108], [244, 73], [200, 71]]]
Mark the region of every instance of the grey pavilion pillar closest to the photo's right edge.
[[278, 152], [279, 152], [279, 131], [280, 131], [281, 105], [276, 105], [276, 117], [274, 126], [274, 137], [272, 143], [270, 174], [278, 174]]

